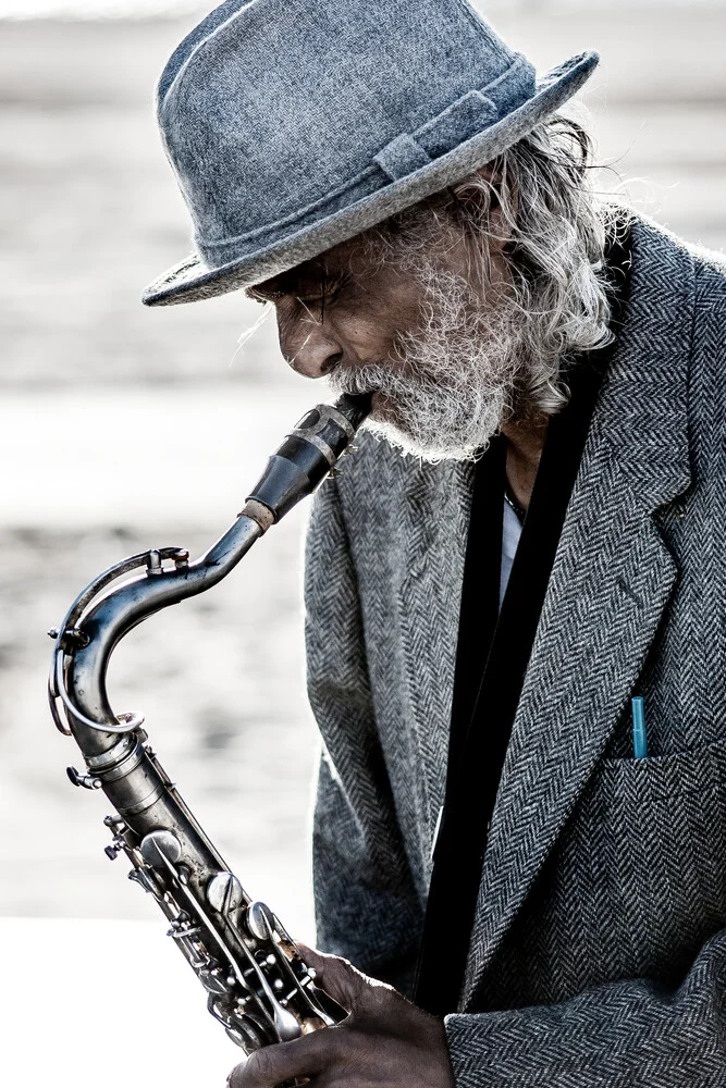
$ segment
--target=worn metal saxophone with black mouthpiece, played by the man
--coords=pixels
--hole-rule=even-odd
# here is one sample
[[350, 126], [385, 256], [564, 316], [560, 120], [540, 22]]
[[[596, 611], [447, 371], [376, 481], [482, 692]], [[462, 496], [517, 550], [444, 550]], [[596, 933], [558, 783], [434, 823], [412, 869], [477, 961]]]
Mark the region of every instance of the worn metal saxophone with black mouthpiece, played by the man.
[[[102, 790], [114, 860], [169, 922], [169, 936], [207, 991], [207, 1007], [250, 1054], [287, 1042], [346, 1015], [315, 986], [315, 970], [272, 911], [255, 902], [231, 873], [180, 796], [136, 713], [114, 715], [106, 676], [114, 647], [137, 623], [168, 605], [211, 589], [255, 541], [333, 472], [370, 411], [370, 395], [318, 405], [286, 435], [242, 514], [195, 561], [185, 548], [152, 548], [100, 574], [74, 601], [56, 641], [49, 702], [57, 727], [75, 738], [85, 772], [74, 786]], [[133, 576], [133, 577], [127, 577]], [[123, 579], [119, 584], [119, 579]]]

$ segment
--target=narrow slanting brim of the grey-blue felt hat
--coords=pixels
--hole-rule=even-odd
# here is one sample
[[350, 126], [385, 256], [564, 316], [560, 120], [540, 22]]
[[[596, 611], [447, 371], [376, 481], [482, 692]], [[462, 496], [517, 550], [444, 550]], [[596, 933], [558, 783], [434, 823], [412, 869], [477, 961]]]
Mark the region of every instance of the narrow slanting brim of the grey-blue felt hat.
[[199, 254], [190, 254], [150, 283], [141, 301], [145, 306], [172, 306], [251, 287], [347, 242], [506, 151], [571, 98], [599, 60], [599, 54], [592, 51], [571, 57], [541, 78], [532, 98], [502, 121], [321, 222], [293, 228], [271, 246], [219, 268], [210, 268]]

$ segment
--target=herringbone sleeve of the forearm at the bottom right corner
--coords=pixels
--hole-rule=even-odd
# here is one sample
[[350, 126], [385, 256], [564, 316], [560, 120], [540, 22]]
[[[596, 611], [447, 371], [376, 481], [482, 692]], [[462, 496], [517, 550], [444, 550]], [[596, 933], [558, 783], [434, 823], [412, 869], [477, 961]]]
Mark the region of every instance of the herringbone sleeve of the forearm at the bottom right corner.
[[445, 1025], [457, 1088], [726, 1088], [726, 930], [677, 990], [610, 982]]

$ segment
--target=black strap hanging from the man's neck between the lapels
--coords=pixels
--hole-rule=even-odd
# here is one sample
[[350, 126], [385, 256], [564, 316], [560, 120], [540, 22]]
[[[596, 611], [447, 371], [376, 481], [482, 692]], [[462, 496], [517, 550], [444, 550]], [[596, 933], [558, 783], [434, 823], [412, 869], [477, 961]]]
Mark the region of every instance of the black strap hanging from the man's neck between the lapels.
[[[611, 249], [608, 267], [618, 288], [615, 326], [629, 269], [629, 249], [624, 243]], [[506, 444], [492, 444], [475, 473], [446, 798], [415, 991], [416, 1003], [436, 1015], [458, 1005], [502, 767], [567, 505], [613, 349], [611, 345], [581, 357], [568, 374], [570, 398], [547, 428], [499, 620], [492, 620], [492, 599], [496, 593], [499, 605]]]

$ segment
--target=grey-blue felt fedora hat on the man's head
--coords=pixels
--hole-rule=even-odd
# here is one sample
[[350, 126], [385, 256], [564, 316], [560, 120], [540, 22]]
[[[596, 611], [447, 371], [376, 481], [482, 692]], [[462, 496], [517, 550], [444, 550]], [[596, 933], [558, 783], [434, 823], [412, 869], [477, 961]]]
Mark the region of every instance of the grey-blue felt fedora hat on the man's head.
[[346, 242], [510, 147], [596, 63], [538, 79], [467, 0], [226, 0], [159, 83], [196, 251], [144, 302], [247, 287]]

